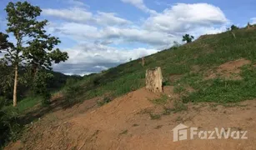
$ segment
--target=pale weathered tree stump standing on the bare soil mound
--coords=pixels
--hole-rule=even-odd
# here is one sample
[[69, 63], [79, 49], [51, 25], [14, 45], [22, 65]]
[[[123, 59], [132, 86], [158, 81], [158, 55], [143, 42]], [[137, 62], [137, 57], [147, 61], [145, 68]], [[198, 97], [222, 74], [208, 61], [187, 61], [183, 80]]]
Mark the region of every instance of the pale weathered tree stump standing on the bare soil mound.
[[163, 76], [161, 67], [148, 69], [146, 72], [146, 88], [151, 92], [163, 92]]

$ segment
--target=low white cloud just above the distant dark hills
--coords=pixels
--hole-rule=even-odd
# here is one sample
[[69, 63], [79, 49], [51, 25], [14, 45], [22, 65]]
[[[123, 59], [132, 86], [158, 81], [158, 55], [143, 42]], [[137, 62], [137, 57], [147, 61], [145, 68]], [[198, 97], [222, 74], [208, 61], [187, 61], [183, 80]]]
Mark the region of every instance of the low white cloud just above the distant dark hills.
[[136, 59], [154, 52], [157, 49], [135, 48], [135, 49], [118, 49], [116, 47], [108, 47], [102, 44], [82, 43], [76, 47], [67, 49], [69, 54], [68, 63], [91, 63], [99, 65], [100, 63], [122, 63], [127, 62], [130, 58]]

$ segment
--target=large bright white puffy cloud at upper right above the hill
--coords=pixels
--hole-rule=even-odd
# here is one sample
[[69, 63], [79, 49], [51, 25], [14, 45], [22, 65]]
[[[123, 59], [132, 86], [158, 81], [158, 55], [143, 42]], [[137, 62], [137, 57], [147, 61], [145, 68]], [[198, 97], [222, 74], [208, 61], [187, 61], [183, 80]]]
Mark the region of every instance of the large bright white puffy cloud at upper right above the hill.
[[178, 3], [147, 19], [144, 27], [159, 32], [184, 32], [197, 27], [228, 23], [219, 7], [207, 3]]

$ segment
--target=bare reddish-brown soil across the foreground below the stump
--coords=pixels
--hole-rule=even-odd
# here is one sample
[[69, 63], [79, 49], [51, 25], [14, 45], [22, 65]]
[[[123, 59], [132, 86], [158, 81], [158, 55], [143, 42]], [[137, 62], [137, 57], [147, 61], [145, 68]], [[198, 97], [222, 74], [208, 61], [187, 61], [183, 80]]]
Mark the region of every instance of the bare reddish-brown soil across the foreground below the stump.
[[[97, 107], [93, 99], [79, 107], [48, 113], [28, 127], [21, 141], [6, 149], [256, 149], [255, 100], [233, 107], [189, 103], [187, 111], [172, 112], [153, 120], [149, 112], [163, 111], [161, 105], [150, 102], [157, 97], [141, 88], [103, 107]], [[179, 123], [202, 130], [215, 127], [247, 130], [248, 139], [195, 139], [174, 143], [172, 129]]]

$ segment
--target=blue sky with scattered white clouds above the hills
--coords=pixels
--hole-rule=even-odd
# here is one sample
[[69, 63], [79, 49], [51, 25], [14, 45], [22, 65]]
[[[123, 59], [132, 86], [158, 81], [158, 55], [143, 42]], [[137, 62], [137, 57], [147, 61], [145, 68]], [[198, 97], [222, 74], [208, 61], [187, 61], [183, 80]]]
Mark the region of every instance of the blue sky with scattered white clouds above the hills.
[[[6, 29], [0, 0], [0, 32]], [[43, 10], [47, 32], [62, 41], [66, 62], [53, 65], [65, 74], [101, 72], [182, 42], [226, 31], [232, 24], [256, 23], [255, 0], [28, 0]], [[15, 42], [11, 36], [10, 41]], [[1, 56], [0, 56], [1, 57]]]

